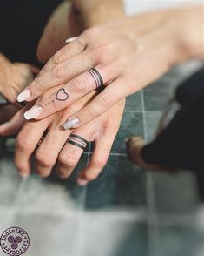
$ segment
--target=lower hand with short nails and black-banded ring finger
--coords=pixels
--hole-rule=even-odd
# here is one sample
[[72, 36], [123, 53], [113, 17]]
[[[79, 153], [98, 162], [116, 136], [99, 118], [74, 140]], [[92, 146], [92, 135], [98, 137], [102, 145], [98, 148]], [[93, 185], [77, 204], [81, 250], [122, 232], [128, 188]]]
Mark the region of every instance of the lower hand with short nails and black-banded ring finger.
[[95, 149], [89, 165], [80, 173], [77, 182], [79, 185], [86, 185], [89, 181], [97, 178], [109, 158], [111, 146], [121, 123], [125, 100], [115, 104], [100, 118], [96, 118], [95, 121], [83, 125], [79, 129], [72, 131], [61, 129], [64, 121], [74, 112], [82, 109], [84, 104], [87, 104], [94, 96], [95, 92], [92, 92], [76, 104], [72, 104], [70, 108], [40, 121], [25, 123], [23, 118], [25, 110], [21, 110], [10, 120], [6, 128], [0, 129], [0, 135], [8, 135], [18, 131], [24, 123], [23, 129], [16, 139], [15, 153], [16, 167], [23, 177], [30, 174], [30, 156], [47, 130], [42, 144], [36, 150], [36, 172], [39, 175], [49, 176], [56, 161], [56, 172], [59, 177], [65, 179], [71, 175], [83, 152], [76, 145], [67, 143], [70, 134], [76, 134], [88, 141], [95, 141]]

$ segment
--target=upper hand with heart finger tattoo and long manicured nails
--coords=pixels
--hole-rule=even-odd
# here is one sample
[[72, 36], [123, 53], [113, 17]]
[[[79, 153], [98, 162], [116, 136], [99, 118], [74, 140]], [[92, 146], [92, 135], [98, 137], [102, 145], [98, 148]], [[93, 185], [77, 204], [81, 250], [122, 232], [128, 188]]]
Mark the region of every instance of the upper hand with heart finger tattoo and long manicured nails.
[[200, 9], [159, 11], [86, 30], [56, 52], [40, 76], [20, 94], [19, 101], [30, 101], [58, 86], [49, 98], [39, 98], [25, 117], [46, 118], [94, 91], [95, 79], [88, 71], [95, 67], [102, 75], [105, 90], [66, 124], [69, 128], [82, 126], [160, 77], [172, 65], [200, 57]]

